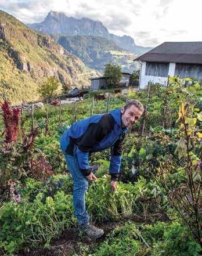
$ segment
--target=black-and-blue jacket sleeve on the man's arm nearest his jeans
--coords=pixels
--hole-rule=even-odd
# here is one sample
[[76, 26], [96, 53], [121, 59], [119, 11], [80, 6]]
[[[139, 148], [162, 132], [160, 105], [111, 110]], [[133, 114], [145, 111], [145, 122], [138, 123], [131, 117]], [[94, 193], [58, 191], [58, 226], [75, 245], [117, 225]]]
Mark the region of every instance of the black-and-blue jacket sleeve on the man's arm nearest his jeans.
[[114, 128], [114, 118], [110, 114], [105, 114], [99, 122], [88, 125], [80, 142], [78, 142], [77, 157], [82, 174], [88, 176], [91, 170], [88, 164], [89, 151], [99, 143], [104, 136], [107, 136]]

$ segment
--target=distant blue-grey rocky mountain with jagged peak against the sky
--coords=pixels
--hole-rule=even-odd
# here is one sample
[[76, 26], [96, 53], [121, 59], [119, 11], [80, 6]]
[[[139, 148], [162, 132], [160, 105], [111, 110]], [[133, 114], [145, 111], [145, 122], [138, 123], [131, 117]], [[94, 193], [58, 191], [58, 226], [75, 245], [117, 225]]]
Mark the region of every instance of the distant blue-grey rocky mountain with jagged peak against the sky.
[[27, 24], [27, 26], [48, 34], [64, 34], [70, 36], [92, 35], [104, 37], [114, 41], [117, 46], [135, 53], [138, 56], [152, 49], [151, 47], [136, 45], [134, 39], [129, 35], [119, 36], [109, 33], [101, 21], [94, 21], [89, 18], [75, 19], [74, 17], [66, 16], [63, 12], [55, 12], [53, 10], [48, 13], [45, 20], [41, 23]]

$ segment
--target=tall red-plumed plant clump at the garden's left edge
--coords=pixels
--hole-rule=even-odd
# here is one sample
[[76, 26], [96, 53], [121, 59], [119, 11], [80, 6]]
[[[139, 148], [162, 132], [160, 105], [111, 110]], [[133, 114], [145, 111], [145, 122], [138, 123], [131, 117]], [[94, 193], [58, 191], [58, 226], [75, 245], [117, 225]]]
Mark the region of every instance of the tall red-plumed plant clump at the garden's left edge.
[[52, 174], [52, 168], [44, 154], [34, 149], [38, 128], [25, 136], [22, 142], [17, 140], [19, 110], [11, 110], [6, 100], [0, 106], [5, 125], [3, 140], [0, 142], [0, 201], [5, 200], [8, 194], [14, 200], [13, 184], [16, 181], [23, 181], [27, 176], [45, 179]]

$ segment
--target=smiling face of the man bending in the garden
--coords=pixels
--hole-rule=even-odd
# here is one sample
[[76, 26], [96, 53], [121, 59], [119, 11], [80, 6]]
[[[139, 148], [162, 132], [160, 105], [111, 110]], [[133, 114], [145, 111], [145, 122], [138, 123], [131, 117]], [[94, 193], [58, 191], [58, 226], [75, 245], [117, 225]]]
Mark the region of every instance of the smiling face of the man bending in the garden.
[[143, 114], [143, 111], [140, 111], [137, 107], [131, 105], [127, 110], [124, 110], [124, 107], [122, 107], [121, 113], [122, 124], [125, 127], [130, 128], [132, 124], [139, 120], [140, 116]]

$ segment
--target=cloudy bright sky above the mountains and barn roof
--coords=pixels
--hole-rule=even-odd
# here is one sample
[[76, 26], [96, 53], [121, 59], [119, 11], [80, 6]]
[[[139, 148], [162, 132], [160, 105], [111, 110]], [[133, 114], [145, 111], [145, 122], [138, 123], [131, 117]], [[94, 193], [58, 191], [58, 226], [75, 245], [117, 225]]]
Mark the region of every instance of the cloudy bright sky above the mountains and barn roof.
[[202, 41], [202, 0], [0, 0], [0, 9], [23, 23], [39, 23], [50, 10], [88, 17], [140, 46]]

